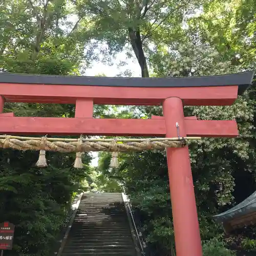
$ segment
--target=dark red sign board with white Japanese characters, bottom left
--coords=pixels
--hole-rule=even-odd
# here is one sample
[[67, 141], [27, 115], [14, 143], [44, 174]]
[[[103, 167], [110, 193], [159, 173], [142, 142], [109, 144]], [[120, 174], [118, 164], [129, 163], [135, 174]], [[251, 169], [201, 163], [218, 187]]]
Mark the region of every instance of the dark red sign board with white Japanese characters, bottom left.
[[6, 221], [0, 223], [0, 250], [11, 250], [15, 226]]

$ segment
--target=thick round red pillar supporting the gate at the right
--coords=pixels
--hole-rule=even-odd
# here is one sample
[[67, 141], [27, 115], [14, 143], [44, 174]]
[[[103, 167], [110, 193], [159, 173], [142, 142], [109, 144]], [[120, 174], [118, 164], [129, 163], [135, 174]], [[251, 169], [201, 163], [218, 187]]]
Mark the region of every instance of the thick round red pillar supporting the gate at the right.
[[[180, 98], [163, 103], [166, 137], [186, 136], [183, 104]], [[177, 256], [202, 256], [200, 230], [188, 147], [167, 149], [170, 197], [172, 200]]]

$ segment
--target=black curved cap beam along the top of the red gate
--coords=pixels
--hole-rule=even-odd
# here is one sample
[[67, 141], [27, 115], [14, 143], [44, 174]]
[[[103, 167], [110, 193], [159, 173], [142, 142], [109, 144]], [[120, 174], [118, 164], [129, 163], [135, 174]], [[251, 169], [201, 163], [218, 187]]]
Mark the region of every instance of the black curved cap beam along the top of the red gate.
[[55, 76], [0, 73], [0, 83], [63, 84], [76, 86], [113, 86], [113, 87], [207, 87], [239, 86], [242, 94], [251, 84], [254, 71], [191, 77], [90, 77], [90, 76]]

